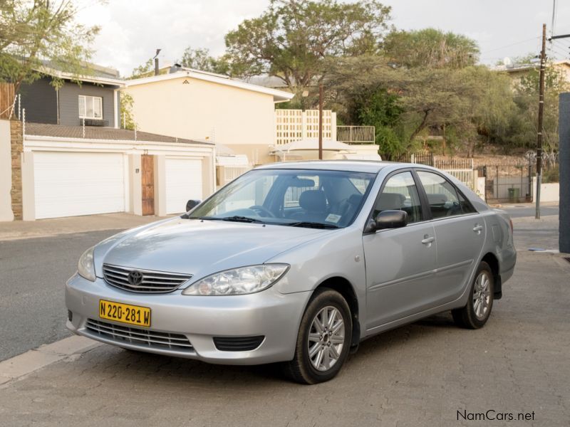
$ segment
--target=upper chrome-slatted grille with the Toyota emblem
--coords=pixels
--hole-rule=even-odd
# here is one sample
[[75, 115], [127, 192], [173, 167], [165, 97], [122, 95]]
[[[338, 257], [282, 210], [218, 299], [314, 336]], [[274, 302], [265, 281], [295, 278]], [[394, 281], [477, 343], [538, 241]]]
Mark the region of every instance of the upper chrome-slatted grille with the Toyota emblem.
[[[129, 280], [129, 275], [133, 272], [138, 273], [139, 278], [142, 276], [142, 280]], [[192, 275], [103, 264], [103, 278], [109, 285], [131, 292], [160, 293], [172, 292], [192, 278]]]

